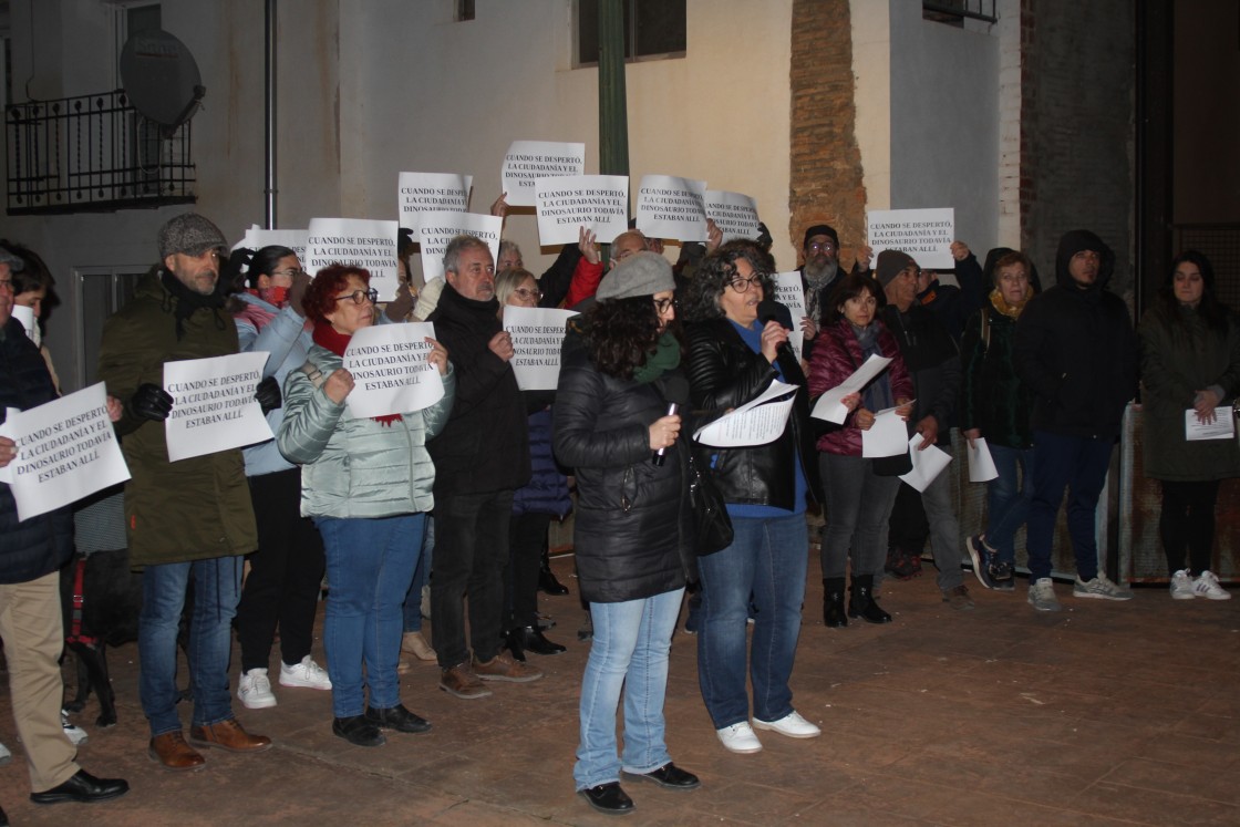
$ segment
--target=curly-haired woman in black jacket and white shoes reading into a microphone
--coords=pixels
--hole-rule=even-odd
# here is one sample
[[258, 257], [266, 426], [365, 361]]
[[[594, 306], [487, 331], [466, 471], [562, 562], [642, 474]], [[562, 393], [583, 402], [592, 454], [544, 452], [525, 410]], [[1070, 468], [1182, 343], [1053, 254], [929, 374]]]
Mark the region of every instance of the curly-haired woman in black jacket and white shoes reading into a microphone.
[[[698, 268], [684, 295], [694, 409], [722, 413], [779, 381], [797, 386], [782, 433], [761, 445], [697, 448], [732, 518], [732, 546], [698, 558], [698, 683], [724, 748], [756, 753], [754, 729], [813, 738], [818, 727], [792, 708], [789, 677], [801, 629], [810, 544], [806, 497], [821, 498], [805, 373], [766, 300], [769, 273], [749, 245], [724, 244]], [[750, 595], [751, 647], [746, 647]], [[748, 650], [748, 651], [746, 651]], [[748, 657], [746, 657], [748, 655]], [[748, 674], [754, 687], [753, 724]]]

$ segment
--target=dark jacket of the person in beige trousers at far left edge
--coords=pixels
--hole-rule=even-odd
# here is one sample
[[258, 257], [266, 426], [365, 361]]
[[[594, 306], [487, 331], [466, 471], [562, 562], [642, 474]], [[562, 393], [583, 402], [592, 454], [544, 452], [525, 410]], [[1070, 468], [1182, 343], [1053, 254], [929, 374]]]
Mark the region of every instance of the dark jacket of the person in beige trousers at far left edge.
[[[5, 408], [29, 410], [56, 398], [47, 363], [9, 317], [0, 329], [0, 422]], [[64, 565], [73, 553], [73, 512], [57, 508], [17, 521], [12, 491], [0, 482], [0, 583], [29, 583]]]

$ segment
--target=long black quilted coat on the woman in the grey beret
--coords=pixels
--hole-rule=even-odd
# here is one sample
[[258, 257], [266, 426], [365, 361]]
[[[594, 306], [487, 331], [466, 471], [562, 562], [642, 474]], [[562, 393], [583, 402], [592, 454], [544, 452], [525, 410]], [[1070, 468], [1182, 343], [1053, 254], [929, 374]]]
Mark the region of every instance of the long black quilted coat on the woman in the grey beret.
[[663, 465], [651, 462], [650, 424], [667, 403], [688, 407], [677, 368], [653, 383], [594, 367], [572, 332], [556, 392], [556, 459], [577, 475], [573, 543], [582, 596], [621, 603], [684, 585], [692, 572], [684, 433]]

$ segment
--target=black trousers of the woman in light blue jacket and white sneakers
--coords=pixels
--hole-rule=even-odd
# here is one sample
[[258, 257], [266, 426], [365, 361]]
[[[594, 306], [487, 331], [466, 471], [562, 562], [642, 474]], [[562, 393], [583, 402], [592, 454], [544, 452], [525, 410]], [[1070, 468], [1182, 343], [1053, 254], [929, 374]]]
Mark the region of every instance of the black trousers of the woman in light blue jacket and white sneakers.
[[289, 469], [249, 479], [258, 524], [258, 551], [237, 605], [237, 640], [243, 671], [268, 668], [275, 627], [280, 658], [289, 666], [310, 653], [314, 616], [325, 567], [322, 538], [301, 516], [301, 471]]

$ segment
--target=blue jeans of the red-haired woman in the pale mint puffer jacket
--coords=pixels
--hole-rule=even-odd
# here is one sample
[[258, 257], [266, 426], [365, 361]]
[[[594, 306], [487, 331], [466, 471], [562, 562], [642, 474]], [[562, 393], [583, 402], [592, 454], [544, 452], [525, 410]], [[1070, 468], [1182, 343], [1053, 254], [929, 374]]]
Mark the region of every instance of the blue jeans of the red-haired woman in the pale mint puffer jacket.
[[327, 553], [327, 615], [324, 645], [331, 677], [331, 710], [337, 718], [370, 705], [401, 703], [401, 605], [413, 579], [425, 515], [379, 520], [315, 520]]

